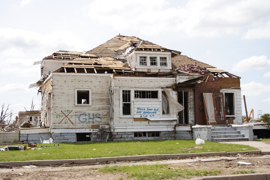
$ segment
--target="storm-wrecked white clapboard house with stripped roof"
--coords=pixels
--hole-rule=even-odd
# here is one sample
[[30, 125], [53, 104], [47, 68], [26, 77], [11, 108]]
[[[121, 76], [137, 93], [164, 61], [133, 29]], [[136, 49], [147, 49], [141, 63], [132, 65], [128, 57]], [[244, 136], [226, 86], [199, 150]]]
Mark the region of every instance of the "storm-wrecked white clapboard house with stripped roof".
[[193, 125], [241, 124], [240, 77], [137, 37], [41, 64], [41, 121], [54, 142], [193, 139]]

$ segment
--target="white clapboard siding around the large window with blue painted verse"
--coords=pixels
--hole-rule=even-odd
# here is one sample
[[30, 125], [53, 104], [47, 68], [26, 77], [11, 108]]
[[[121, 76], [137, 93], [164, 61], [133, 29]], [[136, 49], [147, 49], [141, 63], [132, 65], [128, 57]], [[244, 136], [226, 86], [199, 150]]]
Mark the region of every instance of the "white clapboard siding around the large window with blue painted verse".
[[[124, 76], [115, 76], [114, 77], [114, 94], [113, 94], [113, 101], [114, 101], [114, 117], [113, 117], [113, 124], [114, 127], [117, 129], [120, 126], [127, 126], [133, 128], [133, 126], [143, 126], [144, 128], [149, 128], [152, 126], [159, 126], [159, 125], [149, 125], [148, 121], [134, 121], [133, 117], [120, 117], [120, 88], [135, 88], [137, 90], [143, 90], [143, 88], [153, 89], [161, 89], [162, 87], [166, 87], [168, 85], [172, 85], [175, 83], [175, 78], [173, 77], [124, 77]], [[177, 97], [176, 92], [172, 91], [172, 95], [174, 98]], [[141, 107], [147, 106], [147, 101], [134, 101], [133, 107], [136, 107], [136, 104], [140, 104]], [[151, 101], [148, 102], [151, 104], [151, 107], [157, 106], [161, 107], [161, 100], [160, 101]], [[159, 106], [158, 106], [159, 104]], [[148, 106], [149, 107], [149, 106]], [[136, 116], [135, 116], [136, 117]], [[169, 116], [170, 117], [170, 116]], [[174, 116], [173, 116], [174, 117]], [[175, 115], [176, 117], [176, 115]], [[166, 125], [165, 125], [166, 126]], [[173, 126], [173, 125], [169, 125]], [[117, 131], [117, 130], [116, 130]]]

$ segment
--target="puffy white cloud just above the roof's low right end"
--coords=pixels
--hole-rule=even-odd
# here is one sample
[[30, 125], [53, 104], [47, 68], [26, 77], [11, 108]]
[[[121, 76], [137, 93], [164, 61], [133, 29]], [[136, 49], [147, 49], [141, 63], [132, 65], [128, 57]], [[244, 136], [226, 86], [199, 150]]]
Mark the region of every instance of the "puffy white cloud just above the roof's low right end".
[[243, 59], [234, 64], [232, 71], [244, 72], [247, 70], [262, 70], [270, 67], [270, 59], [267, 59], [265, 55], [251, 56], [250, 58]]

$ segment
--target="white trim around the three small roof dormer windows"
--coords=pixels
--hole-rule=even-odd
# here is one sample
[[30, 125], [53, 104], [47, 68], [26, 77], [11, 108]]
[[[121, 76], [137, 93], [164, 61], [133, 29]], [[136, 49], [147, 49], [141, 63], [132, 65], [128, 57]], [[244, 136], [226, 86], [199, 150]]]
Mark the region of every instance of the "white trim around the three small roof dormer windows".
[[[147, 59], [147, 65], [140, 65], [140, 56], [146, 56]], [[157, 65], [150, 65], [150, 57], [157, 57]], [[160, 65], [160, 57], [166, 57], [167, 58], [167, 66], [161, 66]], [[137, 68], [153, 68], [153, 69], [167, 69], [169, 68], [169, 54], [140, 54], [137, 53]]]

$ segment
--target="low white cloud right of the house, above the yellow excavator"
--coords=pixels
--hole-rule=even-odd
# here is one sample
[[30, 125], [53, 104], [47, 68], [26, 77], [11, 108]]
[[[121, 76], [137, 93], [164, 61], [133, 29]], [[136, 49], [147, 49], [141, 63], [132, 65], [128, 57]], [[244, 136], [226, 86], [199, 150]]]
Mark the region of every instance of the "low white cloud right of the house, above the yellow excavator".
[[246, 84], [241, 84], [242, 95], [245, 96], [259, 96], [263, 93], [270, 92], [270, 85], [263, 85], [262, 83], [250, 82]]

